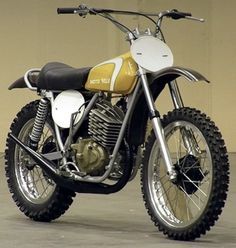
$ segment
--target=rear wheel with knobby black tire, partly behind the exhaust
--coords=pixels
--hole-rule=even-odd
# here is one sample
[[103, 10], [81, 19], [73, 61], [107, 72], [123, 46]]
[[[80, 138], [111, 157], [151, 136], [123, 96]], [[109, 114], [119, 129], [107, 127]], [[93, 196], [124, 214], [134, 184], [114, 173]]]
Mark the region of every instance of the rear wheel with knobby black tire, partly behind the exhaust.
[[[29, 141], [39, 101], [22, 108], [14, 119], [10, 130], [25, 144]], [[53, 122], [48, 114], [38, 152], [55, 151]], [[18, 208], [35, 221], [49, 222], [60, 217], [73, 202], [75, 193], [57, 186], [47, 174], [11, 139], [7, 139], [6, 177], [8, 188]]]

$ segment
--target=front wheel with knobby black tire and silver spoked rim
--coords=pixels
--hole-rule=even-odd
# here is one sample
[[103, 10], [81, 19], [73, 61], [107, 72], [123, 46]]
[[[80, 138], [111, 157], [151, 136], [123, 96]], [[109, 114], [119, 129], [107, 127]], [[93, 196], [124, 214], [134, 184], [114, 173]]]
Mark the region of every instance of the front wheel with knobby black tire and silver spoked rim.
[[171, 182], [151, 132], [141, 168], [145, 206], [168, 237], [193, 240], [215, 224], [224, 207], [229, 163], [215, 124], [200, 111], [181, 108], [163, 117], [165, 137], [177, 172]]

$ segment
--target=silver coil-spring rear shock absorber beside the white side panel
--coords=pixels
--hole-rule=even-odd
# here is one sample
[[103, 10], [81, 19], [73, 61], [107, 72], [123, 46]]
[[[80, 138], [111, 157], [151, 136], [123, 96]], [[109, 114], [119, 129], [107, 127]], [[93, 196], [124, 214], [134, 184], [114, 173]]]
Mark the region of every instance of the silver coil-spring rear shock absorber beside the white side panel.
[[42, 98], [39, 102], [37, 114], [34, 120], [34, 125], [31, 131], [31, 134], [29, 135], [30, 137], [30, 142], [29, 146], [33, 150], [37, 150], [38, 148], [38, 143], [40, 141], [42, 132], [43, 132], [43, 127], [46, 122], [47, 114], [48, 114], [48, 100]]

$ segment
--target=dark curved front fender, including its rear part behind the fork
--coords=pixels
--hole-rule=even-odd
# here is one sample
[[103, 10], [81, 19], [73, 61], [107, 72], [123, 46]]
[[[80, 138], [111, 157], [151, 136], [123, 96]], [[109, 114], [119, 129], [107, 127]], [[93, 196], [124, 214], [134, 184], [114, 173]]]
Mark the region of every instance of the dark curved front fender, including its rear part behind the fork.
[[[166, 84], [179, 77], [184, 77], [191, 82], [205, 81], [209, 83], [209, 80], [202, 74], [192, 69], [177, 66], [167, 67], [158, 72], [147, 74], [153, 99], [156, 100], [158, 98]], [[139, 146], [144, 143], [147, 121], [148, 107], [143, 91], [141, 90], [136, 99], [136, 105], [131, 114], [127, 129], [127, 140], [130, 145]]]

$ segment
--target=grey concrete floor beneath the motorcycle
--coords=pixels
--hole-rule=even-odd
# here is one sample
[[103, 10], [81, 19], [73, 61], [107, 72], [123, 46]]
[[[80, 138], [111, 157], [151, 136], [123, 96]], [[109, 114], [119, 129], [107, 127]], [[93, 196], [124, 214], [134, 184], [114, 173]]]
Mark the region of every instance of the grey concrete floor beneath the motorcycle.
[[236, 247], [236, 154], [230, 155], [230, 191], [216, 225], [194, 242], [173, 241], [158, 232], [144, 208], [139, 177], [109, 196], [77, 195], [52, 223], [26, 218], [8, 192], [0, 158], [0, 248], [51, 247]]

